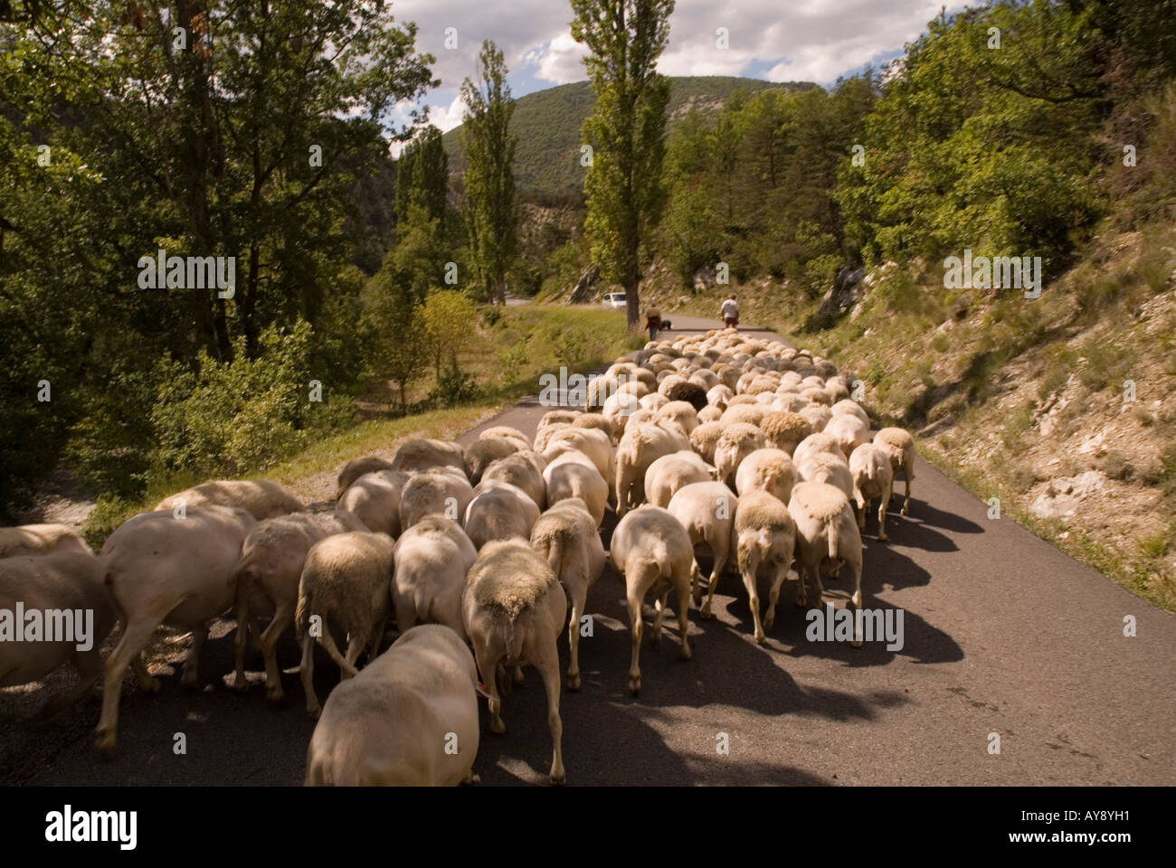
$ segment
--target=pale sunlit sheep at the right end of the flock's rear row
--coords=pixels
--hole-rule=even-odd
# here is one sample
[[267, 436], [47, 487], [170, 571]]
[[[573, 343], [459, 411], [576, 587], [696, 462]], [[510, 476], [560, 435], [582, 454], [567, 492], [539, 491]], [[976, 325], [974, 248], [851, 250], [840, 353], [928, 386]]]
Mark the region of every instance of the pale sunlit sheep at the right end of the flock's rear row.
[[[824, 482], [801, 482], [793, 489], [788, 514], [796, 522], [796, 574], [800, 586], [796, 605], [806, 606], [806, 575], [813, 580], [814, 602], [821, 605], [824, 587], [821, 569], [837, 570], [842, 565], [850, 569], [854, 593], [850, 602], [862, 608], [862, 535], [857, 530], [854, 510], [844, 493]], [[855, 648], [862, 647], [861, 620], [854, 619]]]

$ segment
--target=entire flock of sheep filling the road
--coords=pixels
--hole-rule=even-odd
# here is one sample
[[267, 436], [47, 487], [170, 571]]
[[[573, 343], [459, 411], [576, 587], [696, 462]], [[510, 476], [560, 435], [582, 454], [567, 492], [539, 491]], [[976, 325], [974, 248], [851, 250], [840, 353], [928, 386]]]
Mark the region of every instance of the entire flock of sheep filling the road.
[[[607, 559], [624, 583], [633, 693], [650, 594], [656, 642], [675, 593], [682, 659], [691, 601], [710, 617], [728, 566], [747, 588], [759, 643], [794, 561], [797, 605], [809, 582], [820, 605], [822, 572], [844, 567], [861, 609], [866, 513], [881, 500], [884, 540], [898, 473], [907, 514], [915, 453], [900, 428], [871, 438], [849, 394], [820, 356], [716, 329], [619, 360], [588, 383], [583, 412], [547, 413], [534, 441], [499, 426], [467, 448], [413, 440], [390, 461], [352, 461], [335, 502], [306, 507], [273, 482], [207, 482], [121, 525], [96, 556], [64, 526], [0, 528], [0, 612], [22, 602], [25, 610], [94, 613], [86, 650], [71, 641], [0, 642], [0, 687], [72, 660], [80, 683], [45, 713], [68, 707], [102, 674], [99, 646], [120, 621], [98, 725], [98, 747], [109, 750], [127, 667], [146, 689], [160, 688], [142, 654], [156, 628], [192, 630], [182, 683], [195, 686], [208, 625], [232, 612], [238, 689], [248, 686], [249, 635], [270, 700], [283, 696], [279, 639], [293, 627], [301, 643], [306, 708], [318, 719], [308, 784], [470, 781], [477, 695], [488, 700], [490, 729], [505, 732], [500, 682], [521, 681], [524, 665], [547, 692], [550, 780], [562, 783], [556, 642], [567, 626], [567, 687], [576, 690], [588, 589]], [[606, 555], [600, 528], [609, 506], [619, 523]], [[696, 553], [713, 559], [707, 577]], [[770, 580], [762, 619], [760, 579]], [[259, 616], [269, 617], [263, 630]], [[399, 639], [381, 654], [389, 617]], [[342, 648], [335, 636], [346, 637]], [[855, 632], [854, 645], [861, 641]], [[315, 645], [342, 674], [322, 706]]]

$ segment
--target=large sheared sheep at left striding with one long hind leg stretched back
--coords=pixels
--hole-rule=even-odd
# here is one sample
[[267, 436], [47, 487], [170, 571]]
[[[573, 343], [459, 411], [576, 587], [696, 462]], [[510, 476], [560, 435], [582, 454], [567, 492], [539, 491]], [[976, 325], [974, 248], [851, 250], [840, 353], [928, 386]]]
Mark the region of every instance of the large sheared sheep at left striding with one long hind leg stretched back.
[[163, 510], [140, 513], [107, 538], [100, 569], [121, 612], [122, 636], [106, 661], [99, 749], [114, 749], [119, 694], [128, 666], [148, 692], [160, 689], [141, 654], [160, 625], [192, 630], [192, 649], [180, 680], [186, 687], [198, 685], [196, 666], [208, 622], [233, 605], [241, 545], [256, 523], [245, 509], [193, 506], [182, 519]]

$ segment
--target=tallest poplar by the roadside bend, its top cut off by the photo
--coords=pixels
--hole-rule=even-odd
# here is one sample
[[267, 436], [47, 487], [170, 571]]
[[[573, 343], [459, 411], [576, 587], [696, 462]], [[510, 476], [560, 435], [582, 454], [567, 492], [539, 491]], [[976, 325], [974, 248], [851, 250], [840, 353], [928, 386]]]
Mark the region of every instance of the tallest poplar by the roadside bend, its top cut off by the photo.
[[636, 328], [641, 247], [666, 206], [669, 80], [656, 66], [669, 39], [674, 0], [572, 0], [572, 35], [588, 47], [584, 66], [596, 94], [583, 126], [593, 149], [584, 176], [584, 231], [593, 261], [624, 287], [629, 328]]

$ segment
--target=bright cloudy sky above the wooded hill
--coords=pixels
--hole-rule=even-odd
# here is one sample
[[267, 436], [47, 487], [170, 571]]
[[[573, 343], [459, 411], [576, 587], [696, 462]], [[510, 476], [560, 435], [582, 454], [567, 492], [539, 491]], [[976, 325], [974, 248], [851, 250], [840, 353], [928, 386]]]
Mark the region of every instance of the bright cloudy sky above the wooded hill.
[[[659, 72], [744, 75], [833, 84], [902, 54], [946, 0], [677, 0]], [[947, 2], [949, 11], [960, 4]], [[503, 52], [514, 96], [587, 79], [566, 0], [395, 0], [397, 21], [415, 21], [416, 47], [436, 58], [441, 86], [425, 102], [442, 131], [461, 123], [462, 79], [473, 76], [483, 39]], [[726, 28], [727, 47], [716, 35]], [[453, 31], [449, 31], [453, 28]], [[456, 42], [456, 47], [453, 46]], [[407, 106], [392, 120], [407, 120]]]

